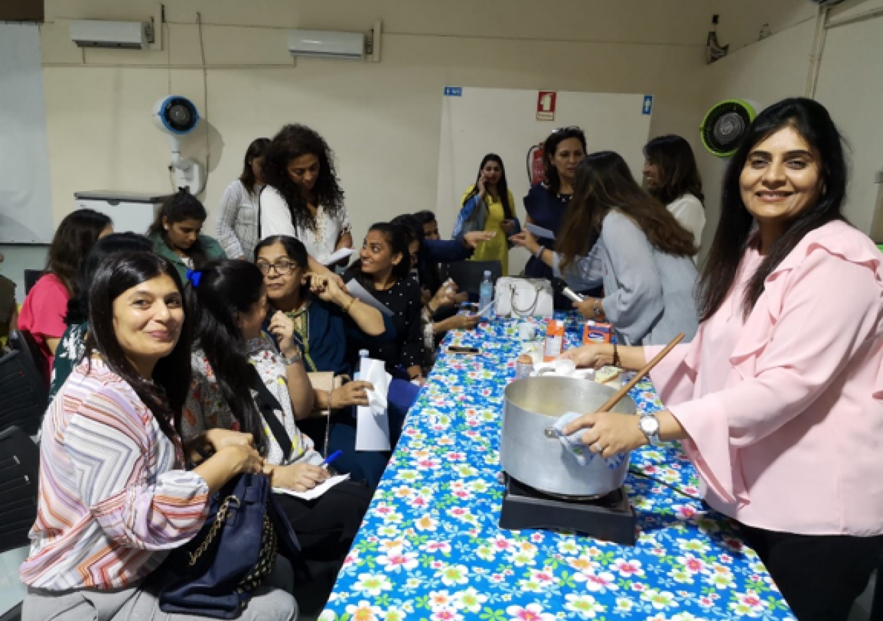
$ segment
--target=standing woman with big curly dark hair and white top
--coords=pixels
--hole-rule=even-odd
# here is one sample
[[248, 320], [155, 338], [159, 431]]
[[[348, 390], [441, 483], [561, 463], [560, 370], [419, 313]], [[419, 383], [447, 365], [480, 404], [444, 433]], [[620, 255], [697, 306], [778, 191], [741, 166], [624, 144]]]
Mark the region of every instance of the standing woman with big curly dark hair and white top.
[[352, 235], [328, 143], [305, 125], [285, 125], [270, 143], [263, 173], [268, 186], [260, 194], [261, 239], [300, 239], [317, 273], [345, 259], [332, 256], [352, 247]]

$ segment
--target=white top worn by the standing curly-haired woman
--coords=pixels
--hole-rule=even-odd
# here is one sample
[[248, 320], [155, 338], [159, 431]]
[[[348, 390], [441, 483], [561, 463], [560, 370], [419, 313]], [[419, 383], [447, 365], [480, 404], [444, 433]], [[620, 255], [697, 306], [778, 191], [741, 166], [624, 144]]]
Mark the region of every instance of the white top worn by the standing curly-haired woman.
[[316, 229], [298, 229], [291, 221], [291, 211], [283, 195], [273, 186], [264, 188], [260, 194], [260, 236], [267, 239], [273, 235], [290, 235], [300, 239], [306, 252], [323, 265], [337, 247], [337, 241], [350, 232], [350, 216], [346, 208], [334, 218], [320, 205], [316, 211]]

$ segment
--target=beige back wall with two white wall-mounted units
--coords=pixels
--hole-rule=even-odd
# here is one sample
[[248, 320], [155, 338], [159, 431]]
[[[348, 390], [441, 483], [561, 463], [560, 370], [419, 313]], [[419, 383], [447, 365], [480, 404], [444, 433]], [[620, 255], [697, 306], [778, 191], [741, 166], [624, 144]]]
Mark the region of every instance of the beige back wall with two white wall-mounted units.
[[[140, 0], [48, 0], [43, 27], [53, 213], [88, 189], [170, 187], [150, 107], [174, 92], [208, 118], [211, 212], [248, 142], [284, 123], [336, 150], [357, 239], [368, 224], [434, 207], [442, 88], [549, 88], [656, 95], [651, 133], [695, 139], [705, 0], [176, 0], [162, 51], [76, 48], [67, 19], [148, 19]], [[201, 12], [207, 100], [196, 12]], [[379, 64], [299, 59], [288, 27], [367, 30], [383, 21]], [[205, 160], [205, 135], [185, 151]], [[520, 162], [511, 163], [515, 174]], [[451, 209], [453, 210], [453, 206]], [[445, 218], [448, 219], [448, 218]]]

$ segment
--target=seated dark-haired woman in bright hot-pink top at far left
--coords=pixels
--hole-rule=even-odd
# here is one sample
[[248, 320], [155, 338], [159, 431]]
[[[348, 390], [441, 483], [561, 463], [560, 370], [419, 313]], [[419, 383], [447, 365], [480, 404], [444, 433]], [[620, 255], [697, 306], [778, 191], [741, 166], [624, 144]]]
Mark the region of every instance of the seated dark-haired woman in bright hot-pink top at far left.
[[112, 232], [110, 218], [94, 209], [77, 209], [65, 216], [49, 246], [47, 273], [34, 284], [21, 305], [18, 327], [30, 332], [40, 348], [42, 356], [37, 364], [47, 386], [58, 341], [67, 329], [67, 300], [79, 295], [79, 267], [95, 242]]

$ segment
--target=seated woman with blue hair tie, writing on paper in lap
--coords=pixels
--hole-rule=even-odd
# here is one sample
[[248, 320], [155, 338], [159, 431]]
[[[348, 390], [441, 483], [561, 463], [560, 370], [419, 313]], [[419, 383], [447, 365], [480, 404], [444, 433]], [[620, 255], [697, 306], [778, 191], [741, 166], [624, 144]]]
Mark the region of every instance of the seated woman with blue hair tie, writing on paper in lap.
[[[260, 269], [246, 261], [212, 261], [192, 272], [190, 281], [196, 298], [197, 346], [182, 419], [185, 439], [212, 428], [251, 434], [266, 456], [264, 473], [274, 488], [304, 493], [327, 481], [322, 456], [297, 425], [313, 409], [313, 390], [293, 323], [281, 312], [272, 315], [269, 330], [279, 350], [260, 329], [267, 314], [267, 287]], [[298, 588], [309, 595], [311, 604], [321, 605], [371, 494], [364, 485], [340, 481], [312, 500], [290, 494], [279, 494], [278, 500], [310, 569], [311, 579], [299, 582]], [[315, 600], [318, 594], [321, 602]], [[313, 608], [305, 606], [301, 594], [296, 596], [302, 612]]]

